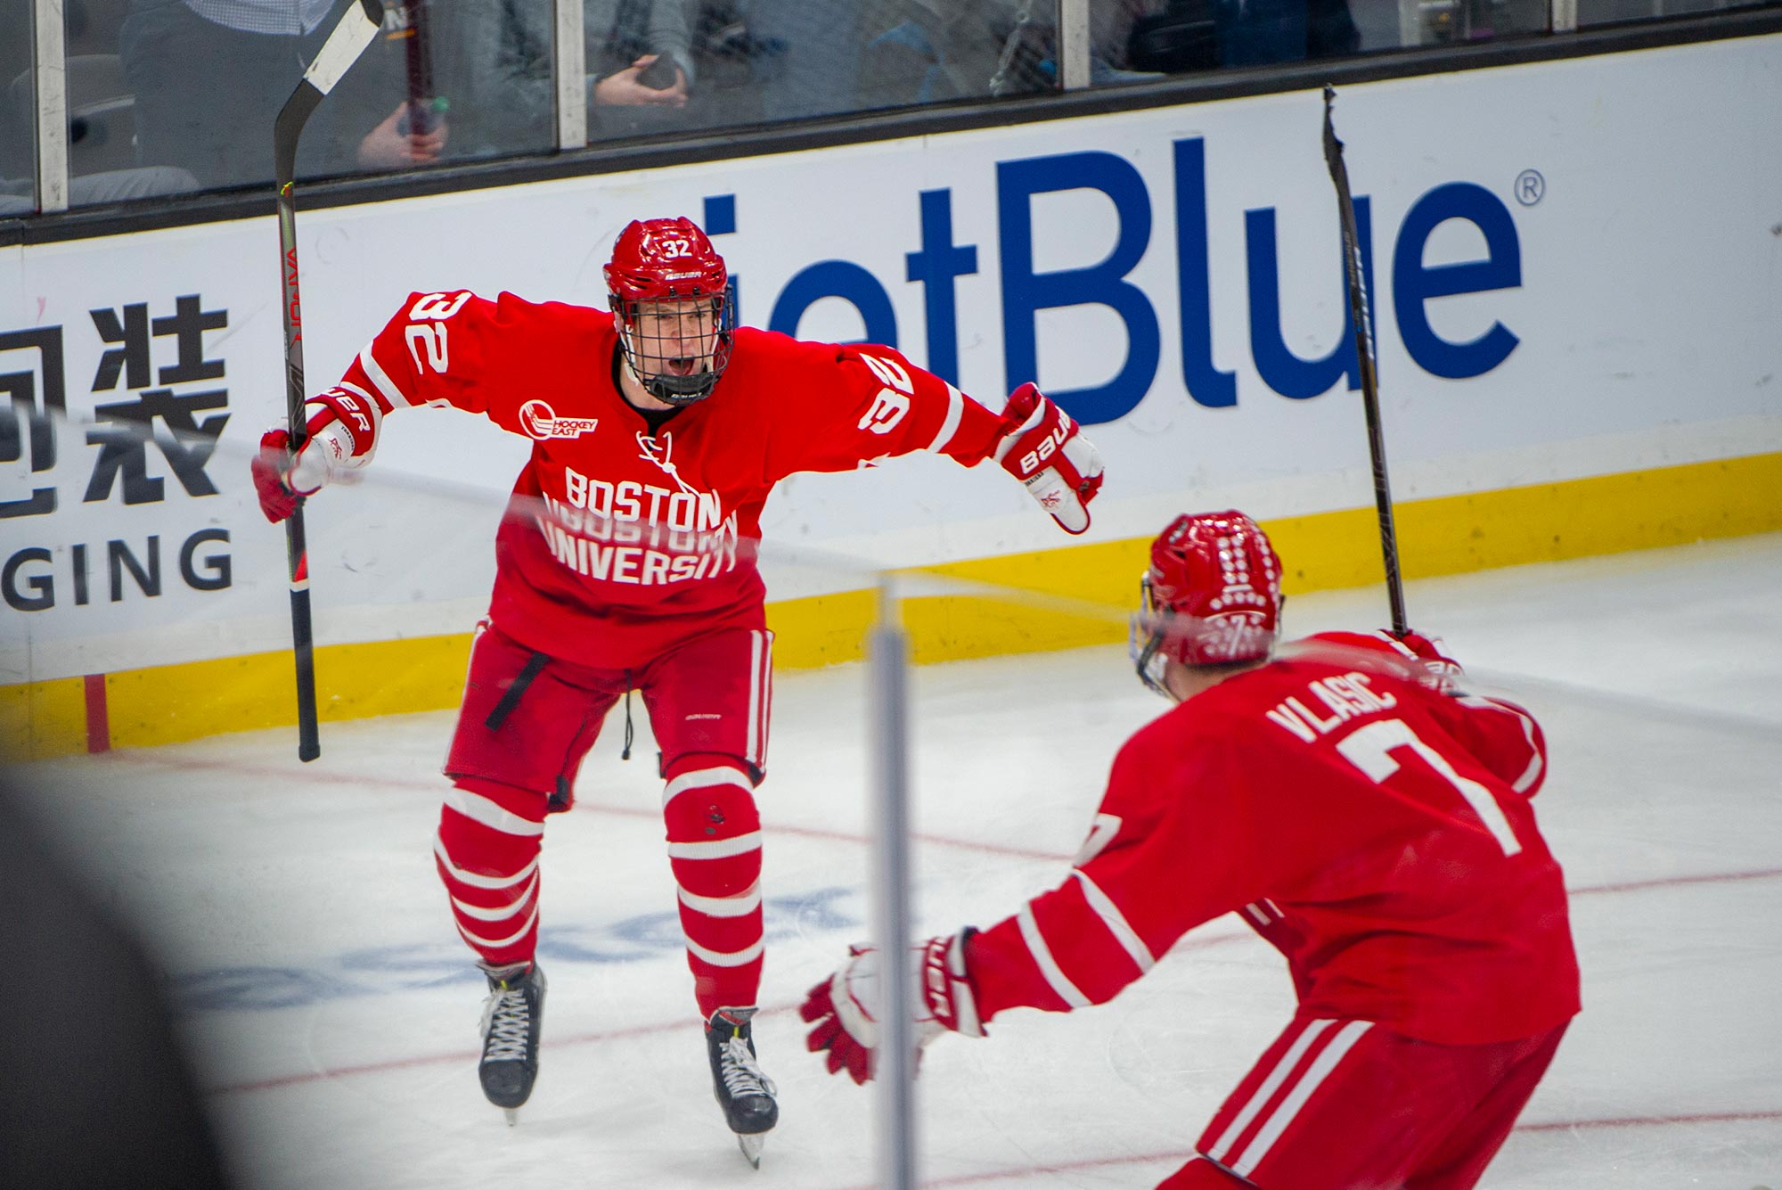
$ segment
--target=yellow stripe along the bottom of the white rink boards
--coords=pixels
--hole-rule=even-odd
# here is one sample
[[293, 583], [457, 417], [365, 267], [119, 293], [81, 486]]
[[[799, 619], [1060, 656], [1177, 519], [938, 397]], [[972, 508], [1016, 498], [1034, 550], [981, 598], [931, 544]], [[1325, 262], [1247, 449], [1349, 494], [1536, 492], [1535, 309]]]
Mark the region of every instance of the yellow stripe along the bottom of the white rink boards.
[[[1782, 529], [1782, 454], [1406, 501], [1394, 511], [1410, 579], [1771, 533]], [[1281, 517], [1263, 529], [1287, 565], [1288, 593], [1383, 581], [1372, 508]], [[957, 661], [1124, 640], [1148, 545], [1146, 536], [923, 568], [998, 590], [902, 600], [911, 656]], [[768, 604], [775, 666], [859, 661], [875, 606], [875, 591]], [[321, 647], [321, 718], [449, 711], [469, 650], [469, 632]], [[105, 684], [119, 748], [296, 723], [289, 652], [127, 670]], [[0, 686], [0, 759], [84, 750], [82, 679]]]

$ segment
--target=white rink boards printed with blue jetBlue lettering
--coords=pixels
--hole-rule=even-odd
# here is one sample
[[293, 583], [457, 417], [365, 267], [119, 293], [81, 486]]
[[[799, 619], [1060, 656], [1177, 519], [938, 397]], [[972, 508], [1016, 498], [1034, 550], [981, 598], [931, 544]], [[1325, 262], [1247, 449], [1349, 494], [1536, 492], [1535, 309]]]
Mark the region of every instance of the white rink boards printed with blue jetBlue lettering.
[[[1782, 39], [1342, 89], [1395, 495], [1782, 449]], [[1755, 89], [1755, 91], [1753, 91]], [[1183, 506], [1370, 502], [1317, 91], [303, 210], [308, 388], [410, 292], [606, 305], [690, 216], [741, 322], [871, 340], [1000, 408], [1037, 381], [1107, 458], [1087, 540]], [[287, 641], [246, 460], [283, 417], [271, 217], [0, 251], [0, 684]], [[549, 401], [549, 394], [540, 394]], [[722, 388], [715, 399], [722, 399]], [[308, 506], [317, 640], [465, 631], [529, 442], [401, 410]], [[1066, 545], [994, 467], [798, 476], [770, 597]]]

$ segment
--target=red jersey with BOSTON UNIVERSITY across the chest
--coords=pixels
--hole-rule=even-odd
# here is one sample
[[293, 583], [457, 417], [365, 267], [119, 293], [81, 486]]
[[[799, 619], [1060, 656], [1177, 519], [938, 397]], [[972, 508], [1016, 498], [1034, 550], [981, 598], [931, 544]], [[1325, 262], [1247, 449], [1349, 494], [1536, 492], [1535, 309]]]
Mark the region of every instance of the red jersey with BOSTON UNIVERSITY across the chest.
[[531, 438], [495, 538], [490, 615], [595, 668], [764, 627], [754, 543], [786, 476], [923, 449], [971, 467], [998, 438], [998, 413], [889, 347], [748, 328], [713, 394], [650, 433], [613, 383], [617, 347], [613, 317], [588, 306], [410, 294], [339, 385], [372, 406], [353, 428], [356, 461], [383, 415], [419, 404]]

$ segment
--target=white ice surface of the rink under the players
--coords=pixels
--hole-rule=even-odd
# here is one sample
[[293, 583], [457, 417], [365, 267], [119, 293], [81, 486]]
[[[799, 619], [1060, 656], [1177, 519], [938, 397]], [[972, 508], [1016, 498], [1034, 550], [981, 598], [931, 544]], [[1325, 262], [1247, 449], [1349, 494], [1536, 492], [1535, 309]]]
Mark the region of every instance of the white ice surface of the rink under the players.
[[[1536, 802], [1584, 971], [1572, 1026], [1484, 1185], [1782, 1186], [1782, 536], [1413, 583], [1411, 622], [1547, 729]], [[1379, 627], [1379, 590], [1294, 599], [1288, 634]], [[864, 670], [777, 679], [757, 1046], [782, 1119], [725, 1131], [674, 912], [642, 711], [549, 823], [538, 1088], [476, 1081], [483, 983], [431, 832], [451, 714], [14, 773], [141, 921], [232, 1161], [253, 1186], [873, 1185], [871, 1094], [804, 1051], [797, 1003], [866, 935]], [[912, 677], [916, 914], [987, 926], [1057, 884], [1116, 748], [1164, 704], [1121, 648]], [[73, 787], [71, 787], [73, 786]], [[934, 1186], [1151, 1186], [1285, 1024], [1276, 953], [1233, 917], [1114, 1003], [941, 1039], [918, 1083]]]

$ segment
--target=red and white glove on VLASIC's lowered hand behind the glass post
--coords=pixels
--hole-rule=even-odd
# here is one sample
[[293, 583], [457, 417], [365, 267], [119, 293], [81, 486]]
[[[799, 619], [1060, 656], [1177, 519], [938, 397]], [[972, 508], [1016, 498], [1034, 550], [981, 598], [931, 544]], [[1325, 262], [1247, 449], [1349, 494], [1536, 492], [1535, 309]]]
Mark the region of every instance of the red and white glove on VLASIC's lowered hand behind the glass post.
[[[948, 1031], [984, 1037], [977, 998], [966, 974], [966, 939], [971, 933], [960, 930], [911, 946], [918, 1053]], [[827, 1051], [829, 1072], [846, 1071], [855, 1083], [866, 1083], [875, 1072], [873, 1056], [879, 1047], [879, 1021], [873, 1017], [879, 951], [871, 946], [850, 946], [848, 955], [836, 974], [809, 990], [798, 1015], [813, 1023], [805, 1047], [811, 1053]]]

